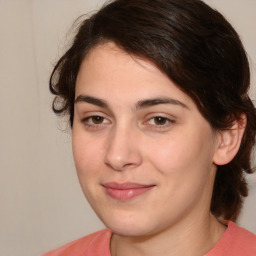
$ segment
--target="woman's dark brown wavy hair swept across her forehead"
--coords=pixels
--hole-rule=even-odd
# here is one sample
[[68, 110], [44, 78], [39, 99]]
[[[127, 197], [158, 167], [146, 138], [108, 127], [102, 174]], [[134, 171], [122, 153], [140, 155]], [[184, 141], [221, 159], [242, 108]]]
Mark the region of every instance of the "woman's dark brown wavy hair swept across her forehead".
[[89, 50], [112, 41], [126, 52], [153, 61], [196, 103], [213, 129], [229, 129], [241, 113], [247, 126], [241, 147], [218, 166], [211, 211], [235, 220], [248, 194], [244, 173], [252, 173], [256, 110], [248, 96], [250, 71], [238, 34], [200, 0], [116, 0], [85, 19], [72, 46], [57, 62], [50, 89], [53, 110], [73, 125], [76, 77]]

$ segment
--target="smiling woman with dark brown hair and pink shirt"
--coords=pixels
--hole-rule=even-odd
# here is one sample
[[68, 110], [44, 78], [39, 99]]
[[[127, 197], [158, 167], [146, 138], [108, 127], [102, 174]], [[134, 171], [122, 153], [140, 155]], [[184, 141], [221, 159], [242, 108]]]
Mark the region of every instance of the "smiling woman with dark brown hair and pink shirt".
[[256, 255], [233, 222], [252, 172], [249, 81], [239, 36], [199, 0], [116, 0], [84, 20], [50, 88], [108, 229], [45, 256]]

